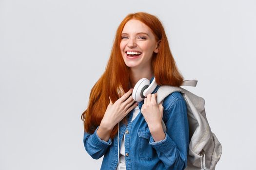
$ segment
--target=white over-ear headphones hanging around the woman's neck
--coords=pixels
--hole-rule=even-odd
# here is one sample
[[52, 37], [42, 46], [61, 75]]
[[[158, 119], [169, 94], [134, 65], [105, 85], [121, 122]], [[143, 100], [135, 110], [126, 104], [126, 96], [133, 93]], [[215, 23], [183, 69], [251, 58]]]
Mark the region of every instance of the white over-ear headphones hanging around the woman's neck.
[[140, 79], [133, 88], [133, 99], [136, 102], [143, 101], [148, 94], [151, 94], [154, 91], [157, 85], [155, 77], [151, 83], [146, 78]]

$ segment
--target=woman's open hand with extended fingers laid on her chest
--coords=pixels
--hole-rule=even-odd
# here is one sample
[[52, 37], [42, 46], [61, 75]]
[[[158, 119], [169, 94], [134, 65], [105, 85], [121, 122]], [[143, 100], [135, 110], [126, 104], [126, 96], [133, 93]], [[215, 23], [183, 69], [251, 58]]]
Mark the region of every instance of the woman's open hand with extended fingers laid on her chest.
[[110, 99], [109, 105], [100, 124], [113, 129], [119, 121], [121, 121], [130, 111], [132, 111], [138, 105], [138, 102], [133, 100], [131, 95], [132, 92], [133, 89], [131, 88], [116, 102], [114, 102], [114, 104]]

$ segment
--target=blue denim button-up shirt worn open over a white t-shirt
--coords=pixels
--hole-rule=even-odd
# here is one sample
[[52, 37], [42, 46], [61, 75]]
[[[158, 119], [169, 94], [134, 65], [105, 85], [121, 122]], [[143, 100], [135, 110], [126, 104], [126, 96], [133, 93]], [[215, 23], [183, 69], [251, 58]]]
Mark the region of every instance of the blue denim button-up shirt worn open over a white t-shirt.
[[[158, 88], [159, 85], [152, 93], [156, 93]], [[138, 103], [139, 110], [143, 103], [144, 101]], [[186, 168], [189, 145], [186, 102], [180, 92], [173, 92], [164, 99], [163, 107], [163, 121], [167, 128], [163, 140], [154, 141], [141, 112], [131, 121], [134, 112], [132, 110], [127, 115], [128, 124], [119, 123], [119, 147], [126, 133], [124, 143], [126, 170], [184, 170]], [[85, 150], [94, 159], [104, 155], [100, 170], [116, 170], [118, 135], [106, 142], [99, 138], [97, 130], [98, 127], [93, 134], [84, 132]]]

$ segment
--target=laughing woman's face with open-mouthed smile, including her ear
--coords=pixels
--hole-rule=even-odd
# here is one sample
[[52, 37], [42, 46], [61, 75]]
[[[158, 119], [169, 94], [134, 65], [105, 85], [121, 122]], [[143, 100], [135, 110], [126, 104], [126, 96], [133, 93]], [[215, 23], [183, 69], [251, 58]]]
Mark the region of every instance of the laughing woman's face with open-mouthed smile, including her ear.
[[153, 52], [158, 52], [158, 43], [151, 29], [143, 22], [131, 19], [125, 24], [121, 37], [120, 49], [126, 66], [151, 67]]

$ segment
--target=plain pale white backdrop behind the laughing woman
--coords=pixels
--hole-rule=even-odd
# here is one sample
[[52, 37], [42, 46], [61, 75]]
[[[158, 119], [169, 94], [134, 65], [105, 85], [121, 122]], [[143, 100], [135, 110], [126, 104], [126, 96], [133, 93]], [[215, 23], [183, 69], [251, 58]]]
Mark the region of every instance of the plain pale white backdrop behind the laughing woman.
[[121, 20], [163, 22], [222, 144], [217, 170], [254, 169], [255, 0], [0, 0], [0, 170], [99, 170], [80, 116]]

